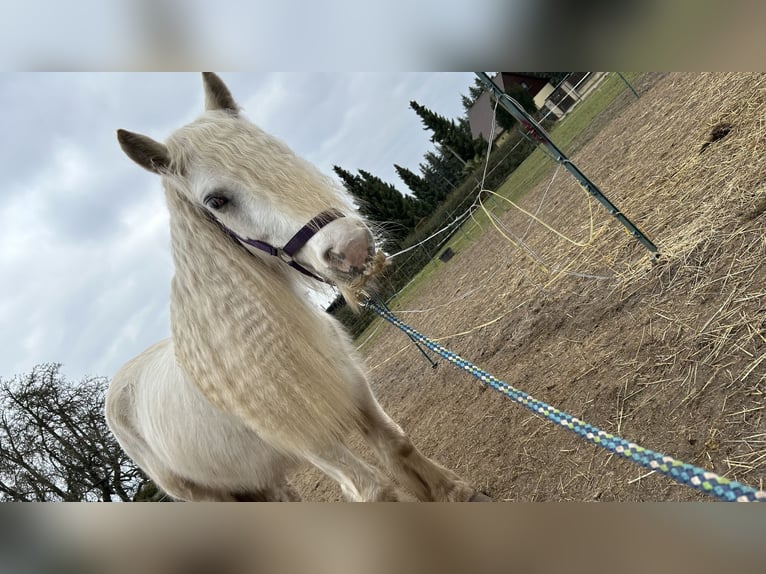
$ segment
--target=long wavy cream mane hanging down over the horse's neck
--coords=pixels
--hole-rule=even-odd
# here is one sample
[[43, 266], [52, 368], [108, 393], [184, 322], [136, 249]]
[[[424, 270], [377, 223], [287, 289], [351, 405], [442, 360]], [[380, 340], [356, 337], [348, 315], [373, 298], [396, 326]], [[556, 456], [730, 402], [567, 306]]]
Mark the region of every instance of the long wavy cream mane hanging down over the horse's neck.
[[170, 317], [183, 380], [222, 411], [280, 437], [290, 445], [285, 452], [334, 444], [358, 411], [341, 374], [356, 372], [347, 366], [354, 356], [333, 336], [329, 316], [299, 295], [297, 272], [251, 254], [174, 193], [167, 192], [176, 268]]

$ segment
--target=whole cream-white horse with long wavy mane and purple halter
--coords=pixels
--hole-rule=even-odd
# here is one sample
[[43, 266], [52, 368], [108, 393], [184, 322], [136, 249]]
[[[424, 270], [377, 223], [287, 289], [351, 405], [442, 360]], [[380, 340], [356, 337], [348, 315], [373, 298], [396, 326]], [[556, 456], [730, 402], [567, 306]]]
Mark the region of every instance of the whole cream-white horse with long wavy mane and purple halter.
[[[164, 143], [117, 131], [160, 176], [174, 265], [171, 336], [108, 389], [122, 448], [181, 501], [298, 501], [289, 477], [308, 465], [349, 501], [490, 500], [413, 445], [349, 334], [307, 297], [325, 281], [355, 306], [385, 264], [351, 197], [245, 118], [219, 76], [202, 83], [204, 112]], [[355, 432], [388, 473], [351, 450]]]

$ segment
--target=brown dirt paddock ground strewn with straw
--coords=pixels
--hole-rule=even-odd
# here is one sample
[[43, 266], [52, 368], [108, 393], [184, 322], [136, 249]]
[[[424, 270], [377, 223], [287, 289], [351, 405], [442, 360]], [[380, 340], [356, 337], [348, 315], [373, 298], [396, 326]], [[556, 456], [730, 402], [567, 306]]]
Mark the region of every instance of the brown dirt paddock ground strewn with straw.
[[[653, 239], [658, 263], [551, 162], [520, 204], [549, 227], [511, 207], [392, 307], [537, 399], [763, 488], [766, 75], [647, 76], [638, 88], [571, 159]], [[710, 142], [721, 125], [728, 133]], [[498, 501], [713, 500], [445, 361], [432, 369], [389, 324], [362, 351], [413, 442]], [[295, 485], [306, 500], [340, 499], [313, 470]]]

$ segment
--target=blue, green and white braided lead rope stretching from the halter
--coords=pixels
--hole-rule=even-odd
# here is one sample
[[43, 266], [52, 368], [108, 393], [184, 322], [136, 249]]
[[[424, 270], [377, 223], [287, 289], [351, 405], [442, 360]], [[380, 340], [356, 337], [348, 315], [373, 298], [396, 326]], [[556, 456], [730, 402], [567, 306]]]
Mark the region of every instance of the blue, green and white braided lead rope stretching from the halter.
[[473, 363], [466, 361], [452, 351], [445, 349], [439, 343], [421, 335], [415, 329], [402, 323], [386, 306], [375, 301], [366, 303], [368, 309], [404, 331], [410, 339], [421, 343], [433, 352], [441, 355], [450, 363], [468, 371], [485, 385], [503, 393], [508, 398], [526, 407], [533, 413], [553, 421], [557, 425], [569, 429], [591, 444], [626, 458], [644, 468], [656, 470], [669, 476], [676, 482], [690, 486], [727, 502], [766, 502], [766, 492], [756, 490], [739, 482], [729, 480], [709, 472], [704, 468], [681, 462], [664, 454], [643, 448], [626, 441], [606, 431], [583, 422], [570, 414], [562, 412], [542, 401], [538, 401], [524, 391], [520, 391], [508, 383], [481, 370]]

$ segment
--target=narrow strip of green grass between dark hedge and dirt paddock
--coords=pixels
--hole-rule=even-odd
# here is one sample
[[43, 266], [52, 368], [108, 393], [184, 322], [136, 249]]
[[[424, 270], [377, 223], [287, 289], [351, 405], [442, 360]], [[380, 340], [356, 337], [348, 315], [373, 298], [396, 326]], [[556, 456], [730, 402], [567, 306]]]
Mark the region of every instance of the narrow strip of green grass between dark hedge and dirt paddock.
[[[639, 72], [626, 72], [623, 76], [633, 82]], [[578, 142], [578, 137], [591, 125], [593, 120], [612, 102], [627, 90], [625, 83], [617, 76], [610, 74], [595, 91], [591, 92], [577, 107], [563, 120], [556, 123], [550, 131], [550, 136], [557, 147], [568, 156], [576, 151], [582, 145]], [[527, 192], [533, 189], [542, 179], [551, 173], [554, 169], [554, 163], [541, 149], [536, 149], [532, 154], [505, 180], [497, 190], [497, 193], [518, 202]], [[500, 215], [507, 211], [510, 206], [502, 200], [496, 200], [490, 197], [484, 201], [484, 205], [495, 215]], [[481, 210], [476, 211], [474, 216], [468, 219], [444, 245], [442, 250], [447, 247], [453, 251], [459, 252], [473, 243], [483, 231], [491, 225], [488, 216]], [[428, 263], [413, 280], [402, 289], [391, 302], [393, 309], [404, 306], [415, 294], [432, 279], [438, 275], [447, 266], [440, 264], [437, 258]], [[357, 341], [364, 341], [377, 325], [373, 321], [364, 332], [357, 337]], [[370, 341], [372, 342], [372, 341]]]

